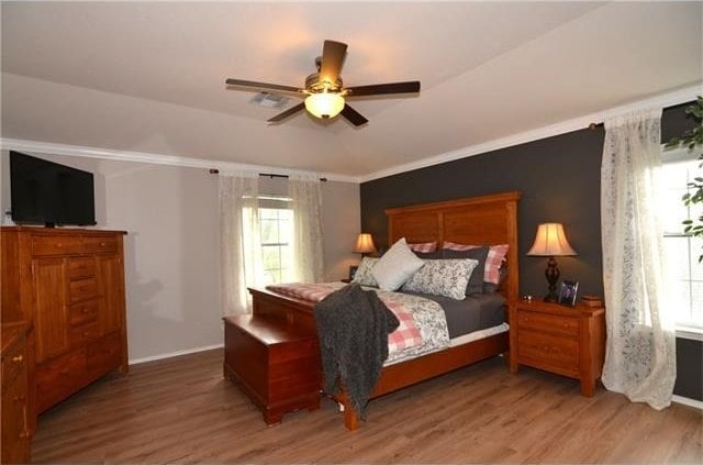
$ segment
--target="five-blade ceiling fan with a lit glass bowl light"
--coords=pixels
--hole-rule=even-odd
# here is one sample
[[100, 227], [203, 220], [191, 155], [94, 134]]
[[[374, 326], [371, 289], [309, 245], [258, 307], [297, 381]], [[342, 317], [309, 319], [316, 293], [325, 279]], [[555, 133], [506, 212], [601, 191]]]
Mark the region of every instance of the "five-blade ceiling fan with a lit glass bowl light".
[[347, 55], [347, 44], [335, 41], [325, 41], [322, 56], [315, 58], [317, 73], [305, 78], [305, 87], [281, 86], [278, 84], [257, 82], [244, 79], [227, 79], [227, 86], [246, 90], [264, 90], [270, 93], [293, 93], [304, 97], [304, 101], [289, 108], [282, 113], [268, 120], [269, 123], [280, 122], [303, 109], [313, 117], [321, 119], [342, 115], [355, 126], [368, 122], [366, 118], [346, 103], [345, 99], [354, 97], [384, 96], [389, 93], [413, 93], [420, 91], [420, 81], [373, 84], [369, 86], [344, 87], [342, 65]]

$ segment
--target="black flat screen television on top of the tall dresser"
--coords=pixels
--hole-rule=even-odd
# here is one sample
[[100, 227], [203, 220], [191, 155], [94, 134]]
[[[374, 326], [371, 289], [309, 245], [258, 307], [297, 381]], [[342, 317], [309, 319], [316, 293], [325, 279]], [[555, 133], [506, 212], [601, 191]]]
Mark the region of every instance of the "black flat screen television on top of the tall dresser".
[[96, 224], [91, 173], [10, 152], [10, 195], [16, 224]]

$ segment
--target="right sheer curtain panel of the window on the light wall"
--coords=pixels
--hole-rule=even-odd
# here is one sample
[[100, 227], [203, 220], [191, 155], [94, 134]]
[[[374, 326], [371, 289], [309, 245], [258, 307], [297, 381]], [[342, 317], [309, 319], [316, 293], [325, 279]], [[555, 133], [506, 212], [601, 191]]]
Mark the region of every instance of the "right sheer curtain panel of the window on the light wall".
[[316, 176], [291, 175], [288, 192], [293, 209], [293, 277], [319, 283], [324, 272], [322, 245], [322, 190]]

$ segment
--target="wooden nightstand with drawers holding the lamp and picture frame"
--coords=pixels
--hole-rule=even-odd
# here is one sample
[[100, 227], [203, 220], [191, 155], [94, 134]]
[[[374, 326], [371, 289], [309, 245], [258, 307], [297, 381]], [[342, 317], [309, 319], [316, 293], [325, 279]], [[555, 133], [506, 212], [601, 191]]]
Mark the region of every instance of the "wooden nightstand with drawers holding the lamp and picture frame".
[[605, 356], [605, 309], [521, 300], [510, 309], [510, 370], [520, 365], [576, 378], [593, 396]]

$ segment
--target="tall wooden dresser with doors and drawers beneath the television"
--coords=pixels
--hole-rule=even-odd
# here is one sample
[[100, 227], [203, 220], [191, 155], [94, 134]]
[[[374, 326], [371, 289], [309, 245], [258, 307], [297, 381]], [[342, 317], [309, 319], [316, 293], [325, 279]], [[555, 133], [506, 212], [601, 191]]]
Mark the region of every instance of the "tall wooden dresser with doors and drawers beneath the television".
[[[38, 414], [108, 372], [127, 372], [124, 232], [2, 228], [2, 320], [30, 323]], [[32, 354], [33, 353], [33, 354]]]

